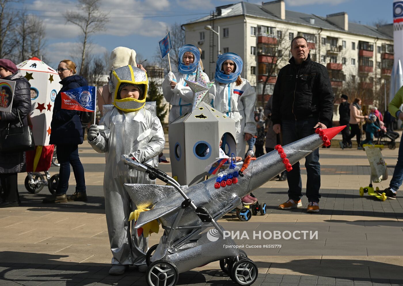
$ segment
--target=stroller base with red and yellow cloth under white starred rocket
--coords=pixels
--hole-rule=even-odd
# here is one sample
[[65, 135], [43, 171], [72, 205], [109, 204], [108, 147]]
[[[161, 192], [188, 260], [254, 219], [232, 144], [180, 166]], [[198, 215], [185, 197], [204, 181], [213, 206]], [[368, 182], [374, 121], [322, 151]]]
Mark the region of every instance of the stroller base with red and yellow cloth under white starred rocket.
[[[44, 186], [48, 186], [49, 192], [54, 194], [59, 183], [59, 174], [51, 177], [48, 171], [51, 164], [60, 166], [57, 163], [54, 145], [35, 146], [35, 150], [27, 151], [25, 154], [27, 159], [27, 177], [25, 177], [24, 185], [27, 191], [31, 194], [36, 194]], [[44, 172], [44, 174], [41, 172]]]

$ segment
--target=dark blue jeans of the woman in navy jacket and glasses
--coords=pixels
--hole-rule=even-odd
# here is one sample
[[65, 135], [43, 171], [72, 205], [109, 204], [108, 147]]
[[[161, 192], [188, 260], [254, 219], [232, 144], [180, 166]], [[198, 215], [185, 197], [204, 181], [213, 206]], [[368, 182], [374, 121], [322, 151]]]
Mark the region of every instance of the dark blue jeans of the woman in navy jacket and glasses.
[[78, 155], [78, 145], [57, 144], [57, 160], [60, 163], [59, 184], [56, 188], [57, 194], [66, 194], [69, 188], [70, 164], [73, 167], [76, 180], [76, 192], [85, 192], [84, 168]]

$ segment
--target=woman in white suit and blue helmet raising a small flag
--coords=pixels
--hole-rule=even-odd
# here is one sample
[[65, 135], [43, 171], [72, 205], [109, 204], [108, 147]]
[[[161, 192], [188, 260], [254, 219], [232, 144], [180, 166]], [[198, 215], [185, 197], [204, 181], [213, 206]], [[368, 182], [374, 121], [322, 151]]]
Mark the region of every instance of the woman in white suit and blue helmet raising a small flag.
[[[201, 64], [200, 52], [196, 46], [187, 44], [179, 48], [179, 72], [169, 72], [162, 82], [164, 97], [172, 105], [169, 111], [169, 123], [191, 111], [193, 91], [187, 86], [185, 79], [195, 80], [199, 62]], [[206, 73], [203, 74], [206, 81], [210, 81]]]

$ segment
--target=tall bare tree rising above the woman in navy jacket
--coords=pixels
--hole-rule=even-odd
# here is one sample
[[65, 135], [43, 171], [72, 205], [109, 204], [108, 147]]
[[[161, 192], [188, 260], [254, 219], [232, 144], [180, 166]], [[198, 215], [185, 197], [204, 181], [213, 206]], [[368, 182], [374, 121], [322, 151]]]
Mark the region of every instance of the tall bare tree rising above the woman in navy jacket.
[[102, 12], [100, 9], [100, 0], [78, 0], [77, 8], [82, 12], [68, 11], [66, 13], [67, 23], [73, 23], [81, 29], [82, 50], [80, 74], [85, 66], [85, 58], [87, 56], [88, 38], [91, 34], [104, 31], [105, 24], [109, 21], [106, 17], [108, 13]]

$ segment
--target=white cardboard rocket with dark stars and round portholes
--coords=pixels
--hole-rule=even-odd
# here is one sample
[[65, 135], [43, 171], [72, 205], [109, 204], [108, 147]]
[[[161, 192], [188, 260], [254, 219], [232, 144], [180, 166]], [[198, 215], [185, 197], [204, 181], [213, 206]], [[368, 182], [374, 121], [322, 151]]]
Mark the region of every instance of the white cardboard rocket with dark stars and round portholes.
[[19, 72], [31, 84], [31, 117], [36, 146], [49, 145], [50, 122], [56, 94], [62, 86], [58, 73], [39, 58], [33, 57], [17, 65]]

